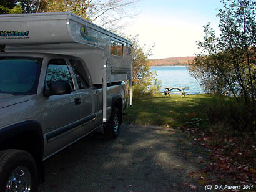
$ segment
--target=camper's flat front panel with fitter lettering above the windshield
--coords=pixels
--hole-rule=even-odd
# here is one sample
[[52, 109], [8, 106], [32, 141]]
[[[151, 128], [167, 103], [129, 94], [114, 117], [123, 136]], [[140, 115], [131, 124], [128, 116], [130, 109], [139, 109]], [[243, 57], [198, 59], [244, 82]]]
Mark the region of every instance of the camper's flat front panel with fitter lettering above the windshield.
[[74, 42], [66, 18], [64, 13], [0, 15], [0, 44]]

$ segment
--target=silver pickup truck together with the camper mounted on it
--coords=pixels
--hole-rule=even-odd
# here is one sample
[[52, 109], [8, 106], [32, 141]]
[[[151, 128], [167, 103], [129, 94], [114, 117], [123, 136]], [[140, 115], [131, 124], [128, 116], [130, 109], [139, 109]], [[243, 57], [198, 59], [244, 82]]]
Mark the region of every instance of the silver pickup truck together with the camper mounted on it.
[[36, 191], [43, 161], [132, 104], [132, 42], [71, 12], [0, 16], [0, 191]]

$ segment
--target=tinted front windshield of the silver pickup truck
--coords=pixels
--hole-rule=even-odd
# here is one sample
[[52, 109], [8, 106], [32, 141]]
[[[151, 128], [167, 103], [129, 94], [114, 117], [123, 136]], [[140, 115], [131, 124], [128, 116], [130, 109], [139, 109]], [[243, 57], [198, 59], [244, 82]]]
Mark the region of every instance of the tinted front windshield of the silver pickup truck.
[[0, 93], [36, 94], [41, 58], [0, 57]]

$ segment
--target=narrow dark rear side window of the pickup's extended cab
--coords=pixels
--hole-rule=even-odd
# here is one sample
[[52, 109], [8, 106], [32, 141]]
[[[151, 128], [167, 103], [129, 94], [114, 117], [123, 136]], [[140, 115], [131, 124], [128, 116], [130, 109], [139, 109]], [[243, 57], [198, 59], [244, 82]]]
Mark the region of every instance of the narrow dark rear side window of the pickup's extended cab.
[[89, 79], [88, 79], [86, 70], [84, 69], [84, 65], [82, 65], [82, 62], [80, 60], [76, 60], [76, 59], [71, 59], [71, 60], [69, 60], [69, 62], [71, 63], [72, 69], [76, 76], [76, 80], [77, 80], [79, 89], [88, 88], [89, 87]]

